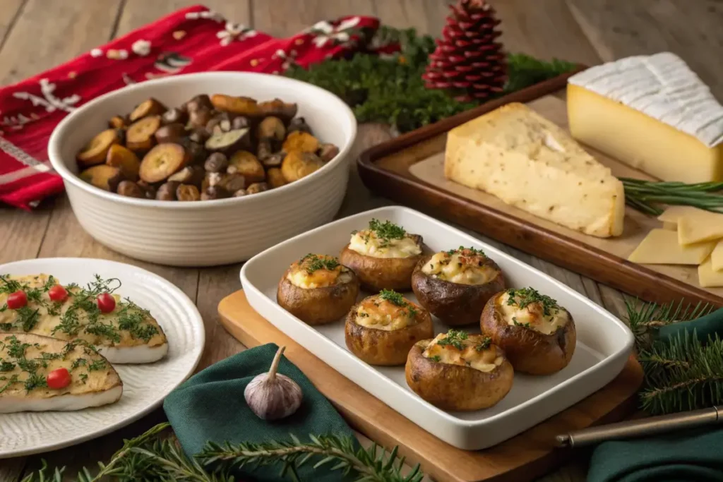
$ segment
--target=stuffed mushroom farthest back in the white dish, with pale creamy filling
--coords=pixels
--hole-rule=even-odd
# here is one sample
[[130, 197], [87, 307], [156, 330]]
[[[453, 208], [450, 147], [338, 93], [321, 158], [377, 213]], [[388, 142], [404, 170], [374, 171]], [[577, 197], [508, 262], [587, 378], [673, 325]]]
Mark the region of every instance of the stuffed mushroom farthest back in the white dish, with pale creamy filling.
[[411, 273], [422, 259], [422, 236], [390, 221], [372, 219], [369, 228], [351, 233], [341, 262], [359, 277], [367, 291], [411, 289]]

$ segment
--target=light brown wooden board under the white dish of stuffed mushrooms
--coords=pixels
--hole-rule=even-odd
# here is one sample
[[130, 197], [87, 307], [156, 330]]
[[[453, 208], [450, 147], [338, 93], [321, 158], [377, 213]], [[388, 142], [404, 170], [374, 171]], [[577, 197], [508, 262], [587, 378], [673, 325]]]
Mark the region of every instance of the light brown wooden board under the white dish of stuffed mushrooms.
[[424, 472], [440, 482], [534, 480], [570, 455], [554, 447], [557, 434], [620, 420], [635, 409], [643, 380], [640, 364], [630, 356], [617, 378], [580, 403], [502, 444], [469, 452], [420, 429], [309, 353], [254, 311], [243, 291], [223, 298], [218, 314], [223, 327], [249, 348], [265, 343], [286, 346], [284, 354], [354, 429], [384, 447], [398, 446], [408, 462], [422, 464]]

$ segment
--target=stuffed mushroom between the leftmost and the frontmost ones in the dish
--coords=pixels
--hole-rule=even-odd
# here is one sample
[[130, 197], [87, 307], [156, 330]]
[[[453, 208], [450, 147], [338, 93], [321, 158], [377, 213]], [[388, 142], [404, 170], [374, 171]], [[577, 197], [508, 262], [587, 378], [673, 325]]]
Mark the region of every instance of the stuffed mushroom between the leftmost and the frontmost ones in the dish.
[[371, 365], [403, 365], [414, 343], [434, 335], [429, 312], [390, 290], [355, 305], [344, 327], [347, 348]]

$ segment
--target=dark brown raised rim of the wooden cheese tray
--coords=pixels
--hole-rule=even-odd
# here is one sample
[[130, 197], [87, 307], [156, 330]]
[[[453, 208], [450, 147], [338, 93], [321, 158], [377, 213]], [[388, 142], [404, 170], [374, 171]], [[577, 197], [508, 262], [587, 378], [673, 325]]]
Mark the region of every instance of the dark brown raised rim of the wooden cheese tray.
[[[583, 68], [584, 66], [579, 66], [579, 69]], [[696, 288], [673, 277], [662, 275], [641, 264], [629, 262], [627, 259], [609, 254], [555, 231], [549, 231], [539, 225], [526, 223], [520, 218], [515, 218], [471, 199], [456, 197], [454, 194], [437, 186], [412, 178], [411, 175], [406, 177], [375, 164], [375, 161], [380, 158], [444, 134], [450, 129], [506, 103], [526, 103], [560, 90], [560, 88], [565, 87], [568, 77], [575, 72], [579, 72], [579, 70], [554, 77], [518, 92], [513, 92], [513, 94], [505, 95], [505, 97], [485, 103], [479, 108], [452, 116], [437, 124], [416, 129], [361, 152], [357, 160], [361, 181], [364, 186], [367, 186], [367, 189], [389, 197], [395, 202], [429, 212], [442, 219], [453, 220], [453, 222], [484, 236], [489, 236], [489, 238], [521, 249], [533, 256], [546, 259], [573, 272], [578, 272], [599, 283], [638, 296], [645, 301], [667, 303], [683, 298], [688, 303], [697, 304], [702, 302], [723, 306], [723, 297], [716, 296], [709, 293], [709, 291]], [[410, 194], [419, 189], [431, 202], [415, 201], [415, 196]], [[439, 207], [444, 203], [454, 204], [461, 207], [461, 209], [450, 214]], [[513, 229], [507, 228], [510, 224], [513, 225]], [[587, 259], [590, 254], [596, 258], [595, 262], [589, 262]], [[587, 264], [591, 265], [588, 266]]]

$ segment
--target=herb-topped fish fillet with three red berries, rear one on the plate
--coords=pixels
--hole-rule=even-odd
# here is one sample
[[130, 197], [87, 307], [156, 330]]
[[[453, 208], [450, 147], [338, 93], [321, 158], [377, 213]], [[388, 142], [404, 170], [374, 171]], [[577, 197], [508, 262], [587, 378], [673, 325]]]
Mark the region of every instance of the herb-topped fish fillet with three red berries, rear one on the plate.
[[116, 279], [96, 276], [85, 288], [50, 275], [0, 275], [0, 332], [83, 340], [111, 363], [150, 363], [168, 340], [150, 312], [114, 294]]

